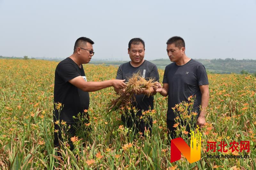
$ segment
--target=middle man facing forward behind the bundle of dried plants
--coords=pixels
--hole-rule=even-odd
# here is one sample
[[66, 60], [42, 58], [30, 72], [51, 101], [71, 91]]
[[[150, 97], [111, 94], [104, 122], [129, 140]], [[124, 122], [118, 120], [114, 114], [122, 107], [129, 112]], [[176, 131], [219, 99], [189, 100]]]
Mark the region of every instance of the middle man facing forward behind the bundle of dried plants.
[[[149, 78], [159, 81], [159, 74], [155, 64], [144, 59], [145, 54], [145, 43], [140, 38], [131, 39], [128, 44], [128, 54], [131, 61], [121, 64], [117, 70], [116, 79], [126, 81], [129, 77], [132, 77], [132, 74], [140, 73], [146, 80]], [[117, 89], [115, 89], [118, 92]], [[135, 133], [140, 131], [142, 136], [144, 136], [145, 128], [150, 131], [152, 127], [152, 118], [147, 117], [147, 120], [141, 119], [142, 111], [153, 110], [154, 109], [154, 96], [147, 96], [148, 93], [156, 94], [154, 89], [151, 87], [150, 91], [141, 90], [140, 94], [135, 95], [135, 101], [132, 102], [132, 105], [136, 108], [137, 112], [134, 113], [134, 110], [131, 110], [131, 115], [126, 113], [122, 114], [122, 121], [127, 127], [134, 129]]]

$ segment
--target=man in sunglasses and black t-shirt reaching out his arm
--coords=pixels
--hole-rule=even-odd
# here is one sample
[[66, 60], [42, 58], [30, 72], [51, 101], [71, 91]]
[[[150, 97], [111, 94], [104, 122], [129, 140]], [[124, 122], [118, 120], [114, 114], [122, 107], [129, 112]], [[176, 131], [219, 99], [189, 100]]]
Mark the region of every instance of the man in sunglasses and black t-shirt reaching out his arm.
[[[56, 67], [53, 112], [55, 146], [59, 146], [59, 140], [62, 141], [61, 131], [63, 128], [65, 129], [64, 124], [66, 124], [66, 127], [70, 125], [68, 138], [75, 135], [76, 131], [73, 126], [76, 122], [73, 116], [76, 117], [78, 113], [88, 110], [90, 103], [88, 92], [110, 86], [116, 89], [123, 89], [126, 86], [125, 80], [87, 81], [82, 64], [90, 62], [94, 54], [93, 44], [94, 42], [91, 39], [80, 37], [76, 40], [74, 53], [60, 61]], [[70, 141], [69, 144], [73, 149]]]

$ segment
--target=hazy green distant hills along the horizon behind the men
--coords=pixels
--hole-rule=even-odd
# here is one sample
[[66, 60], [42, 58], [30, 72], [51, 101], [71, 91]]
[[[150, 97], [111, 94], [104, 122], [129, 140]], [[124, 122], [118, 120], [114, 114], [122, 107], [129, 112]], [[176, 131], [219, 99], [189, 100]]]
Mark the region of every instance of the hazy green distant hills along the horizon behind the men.
[[[8, 59], [22, 59], [21, 57], [3, 57], [1, 58], [8, 58]], [[39, 59], [39, 58], [36, 58]], [[41, 59], [42, 60], [42, 59]], [[56, 58], [46, 58], [43, 60], [55, 60], [60, 61], [63, 59], [56, 59]], [[219, 74], [230, 74], [230, 73], [237, 73], [240, 74], [242, 70], [249, 72], [250, 74], [256, 73], [256, 60], [236, 60], [236, 59], [195, 59], [201, 62], [204, 67], [206, 68], [207, 72], [210, 73], [219, 73]], [[165, 66], [171, 63], [169, 59], [156, 59], [156, 60], [149, 60], [150, 62], [156, 64], [156, 66], [160, 69], [164, 69]], [[106, 61], [106, 60], [98, 60], [98, 61], [90, 61], [90, 64], [105, 64], [105, 65], [116, 65], [119, 66], [122, 63], [128, 61]]]

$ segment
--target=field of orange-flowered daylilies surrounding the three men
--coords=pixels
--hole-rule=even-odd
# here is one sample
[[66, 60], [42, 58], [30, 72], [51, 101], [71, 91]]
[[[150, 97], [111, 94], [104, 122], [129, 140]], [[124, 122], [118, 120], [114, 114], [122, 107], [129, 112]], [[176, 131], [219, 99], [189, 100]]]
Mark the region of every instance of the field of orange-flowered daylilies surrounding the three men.
[[[67, 142], [60, 150], [53, 147], [54, 71], [58, 62], [45, 60], [0, 60], [0, 169], [256, 169], [256, 78], [241, 74], [208, 74], [210, 101], [202, 133], [201, 159], [189, 163], [181, 159], [170, 163], [170, 143], [166, 129], [167, 98], [155, 96], [154, 110], [144, 116], [153, 117], [152, 136], [134, 135], [121, 122], [122, 110], [106, 112], [113, 88], [90, 92], [90, 122], [80, 117], [75, 149]], [[88, 81], [116, 77], [117, 67], [84, 65]], [[164, 70], [159, 70], [160, 82]], [[177, 103], [179, 104], [179, 103]], [[187, 108], [177, 118], [177, 133], [187, 141], [189, 132], [180, 127], [181, 119], [191, 119]], [[59, 104], [61, 110], [63, 105]], [[86, 122], [86, 123], [85, 123]], [[90, 132], [89, 132], [90, 129]], [[147, 134], [147, 132], [146, 132]], [[65, 134], [63, 134], [67, 137]], [[249, 141], [250, 151], [207, 151], [207, 141]], [[208, 148], [209, 149], [209, 148]], [[217, 149], [216, 149], [217, 150]], [[211, 159], [206, 155], [248, 155], [249, 158]]]

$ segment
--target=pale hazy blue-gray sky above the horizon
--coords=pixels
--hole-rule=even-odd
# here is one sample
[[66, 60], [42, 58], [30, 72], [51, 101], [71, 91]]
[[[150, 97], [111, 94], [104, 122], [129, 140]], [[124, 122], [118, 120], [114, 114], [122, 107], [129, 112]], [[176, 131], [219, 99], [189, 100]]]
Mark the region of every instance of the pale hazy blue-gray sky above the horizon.
[[61, 57], [79, 37], [93, 58], [129, 60], [130, 39], [145, 41], [145, 59], [168, 58], [166, 41], [181, 36], [195, 59], [256, 59], [256, 0], [0, 0], [0, 55]]

